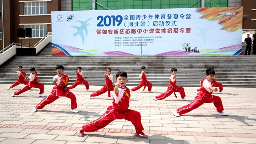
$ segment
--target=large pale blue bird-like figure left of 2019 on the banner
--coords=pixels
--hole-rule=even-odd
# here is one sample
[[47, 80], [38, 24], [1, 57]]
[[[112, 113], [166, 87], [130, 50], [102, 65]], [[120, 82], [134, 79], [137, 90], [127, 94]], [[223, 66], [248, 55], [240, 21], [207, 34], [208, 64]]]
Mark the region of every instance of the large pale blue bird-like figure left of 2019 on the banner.
[[92, 19], [92, 18], [89, 18], [88, 20], [86, 21], [75, 21], [75, 22], [79, 22], [81, 24], [81, 26], [71, 26], [71, 27], [74, 27], [76, 29], [76, 33], [74, 33], [73, 35], [76, 36], [77, 34], [81, 36], [82, 38], [82, 41], [83, 41], [83, 44], [84, 44], [84, 32], [85, 32], [85, 37], [87, 37], [87, 34], [88, 34], [88, 31], [87, 31], [87, 26], [89, 24], [87, 24], [87, 22]]

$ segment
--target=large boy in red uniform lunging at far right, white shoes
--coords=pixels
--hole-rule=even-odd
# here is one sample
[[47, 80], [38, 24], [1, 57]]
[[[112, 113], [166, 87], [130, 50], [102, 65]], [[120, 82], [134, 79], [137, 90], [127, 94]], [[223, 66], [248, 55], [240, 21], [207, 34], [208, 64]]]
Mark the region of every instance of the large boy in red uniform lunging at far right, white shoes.
[[172, 114], [176, 117], [180, 117], [180, 115], [190, 112], [198, 107], [200, 107], [204, 103], [213, 103], [217, 108], [218, 115], [228, 116], [225, 112], [223, 112], [223, 105], [221, 98], [215, 95], [212, 95], [212, 91], [218, 91], [217, 87], [212, 87], [212, 81], [214, 79], [215, 72], [213, 70], [206, 70], [206, 78], [201, 81], [201, 91], [197, 94], [195, 99], [188, 105], [182, 106], [177, 109], [176, 112], [172, 112]]

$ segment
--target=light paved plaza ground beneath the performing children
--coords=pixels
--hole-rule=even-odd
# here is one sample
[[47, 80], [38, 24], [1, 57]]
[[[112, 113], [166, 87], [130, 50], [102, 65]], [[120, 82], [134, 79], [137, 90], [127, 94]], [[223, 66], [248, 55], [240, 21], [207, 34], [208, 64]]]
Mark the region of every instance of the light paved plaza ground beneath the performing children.
[[[252, 144], [256, 143], [256, 88], [224, 88], [226, 94], [214, 92], [222, 98], [224, 111], [229, 116], [218, 116], [213, 104], [203, 104], [181, 117], [172, 112], [191, 102], [197, 88], [185, 87], [186, 98], [180, 101], [172, 94], [162, 101], [152, 98], [166, 91], [167, 87], [153, 87], [153, 93], [142, 90], [131, 93], [130, 109], [141, 113], [144, 133], [148, 139], [134, 136], [133, 124], [115, 120], [104, 129], [76, 135], [83, 124], [100, 117], [112, 104], [107, 93], [87, 99], [101, 86], [90, 86], [84, 91], [78, 85], [72, 92], [77, 98], [79, 113], [70, 112], [70, 100], [59, 98], [44, 109], [31, 112], [43, 98], [39, 89], [31, 89], [19, 96], [10, 97], [24, 85], [6, 90], [9, 84], [0, 84], [0, 144]], [[127, 84], [129, 87], [129, 84]], [[45, 85], [47, 96], [53, 85]], [[132, 87], [130, 87], [132, 88]], [[179, 96], [179, 93], [178, 95]]]

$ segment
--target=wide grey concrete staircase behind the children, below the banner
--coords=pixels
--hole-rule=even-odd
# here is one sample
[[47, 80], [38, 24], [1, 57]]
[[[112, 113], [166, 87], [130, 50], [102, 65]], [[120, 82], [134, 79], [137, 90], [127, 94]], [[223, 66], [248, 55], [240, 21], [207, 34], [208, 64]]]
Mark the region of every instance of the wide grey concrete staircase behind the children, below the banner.
[[[177, 85], [200, 87], [205, 78], [205, 70], [215, 69], [216, 81], [224, 87], [256, 87], [256, 56], [52, 56], [49, 43], [37, 56], [14, 56], [0, 66], [0, 83], [13, 84], [17, 80], [18, 65], [29, 76], [29, 68], [35, 67], [38, 82], [53, 84], [56, 64], [64, 65], [64, 73], [70, 78], [70, 84], [76, 80], [74, 72], [82, 67], [83, 75], [89, 85], [103, 85], [107, 67], [112, 74], [125, 71], [128, 74], [128, 86], [136, 86], [141, 79], [141, 67], [146, 67], [148, 81], [153, 86], [168, 86], [171, 69], [177, 68]], [[114, 78], [115, 79], [115, 78]]]

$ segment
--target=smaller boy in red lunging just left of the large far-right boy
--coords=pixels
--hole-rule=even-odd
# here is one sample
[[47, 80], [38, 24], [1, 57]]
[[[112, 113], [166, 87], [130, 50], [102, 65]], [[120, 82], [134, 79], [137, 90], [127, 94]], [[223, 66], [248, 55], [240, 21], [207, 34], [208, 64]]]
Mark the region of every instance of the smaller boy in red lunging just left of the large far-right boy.
[[163, 100], [165, 98], [167, 98], [168, 96], [170, 96], [172, 94], [172, 92], [174, 92], [174, 96], [177, 98], [175, 92], [180, 92], [181, 93], [181, 100], [182, 101], [188, 101], [185, 97], [185, 91], [184, 88], [177, 86], [177, 80], [176, 80], [176, 74], [177, 74], [177, 69], [176, 68], [172, 68], [172, 75], [169, 78], [170, 84], [167, 88], [167, 91], [165, 91], [164, 93], [156, 96], [155, 98], [153, 98], [153, 100], [157, 101], [157, 100]]

